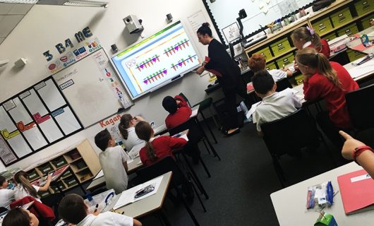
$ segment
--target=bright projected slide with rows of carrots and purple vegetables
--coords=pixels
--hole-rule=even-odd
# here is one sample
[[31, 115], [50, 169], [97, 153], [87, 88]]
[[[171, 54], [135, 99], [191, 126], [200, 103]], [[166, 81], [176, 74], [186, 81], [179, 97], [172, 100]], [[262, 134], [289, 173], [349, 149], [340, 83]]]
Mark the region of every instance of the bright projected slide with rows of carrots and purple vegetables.
[[133, 99], [200, 65], [180, 21], [111, 57]]

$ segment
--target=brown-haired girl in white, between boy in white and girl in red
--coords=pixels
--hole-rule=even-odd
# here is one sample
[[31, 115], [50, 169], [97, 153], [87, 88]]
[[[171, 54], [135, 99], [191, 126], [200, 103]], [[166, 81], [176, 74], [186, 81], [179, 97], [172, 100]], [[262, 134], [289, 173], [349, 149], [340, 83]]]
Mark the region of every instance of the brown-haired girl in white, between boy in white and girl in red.
[[140, 116], [133, 117], [131, 114], [123, 114], [118, 125], [123, 138], [123, 145], [131, 153], [138, 153], [140, 148], [144, 146], [144, 141], [140, 140], [135, 133], [135, 126], [139, 121], [144, 121], [144, 119]]

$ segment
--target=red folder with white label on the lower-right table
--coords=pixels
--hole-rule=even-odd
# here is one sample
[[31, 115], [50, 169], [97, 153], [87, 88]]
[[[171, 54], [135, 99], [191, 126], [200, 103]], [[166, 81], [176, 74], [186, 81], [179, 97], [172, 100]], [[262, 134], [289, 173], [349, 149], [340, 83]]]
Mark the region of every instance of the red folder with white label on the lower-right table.
[[365, 169], [337, 177], [346, 215], [374, 209], [374, 180]]

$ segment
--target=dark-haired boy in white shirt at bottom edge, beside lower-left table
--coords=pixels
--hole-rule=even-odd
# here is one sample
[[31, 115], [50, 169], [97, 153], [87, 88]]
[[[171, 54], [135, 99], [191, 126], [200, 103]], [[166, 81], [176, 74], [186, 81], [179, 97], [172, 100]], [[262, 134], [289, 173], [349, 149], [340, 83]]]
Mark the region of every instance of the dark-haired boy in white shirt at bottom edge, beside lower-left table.
[[138, 220], [126, 215], [110, 211], [93, 215], [88, 213], [88, 207], [83, 198], [77, 194], [68, 194], [61, 199], [59, 214], [69, 225], [76, 226], [141, 226]]

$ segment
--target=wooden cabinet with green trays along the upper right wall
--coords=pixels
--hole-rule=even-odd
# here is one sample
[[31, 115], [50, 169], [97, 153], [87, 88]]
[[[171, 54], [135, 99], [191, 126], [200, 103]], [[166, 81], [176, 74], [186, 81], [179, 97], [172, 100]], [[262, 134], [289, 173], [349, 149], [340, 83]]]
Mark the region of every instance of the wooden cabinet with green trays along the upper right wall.
[[[248, 47], [245, 52], [248, 57], [251, 57], [252, 54], [263, 53], [264, 49], [268, 50], [268, 47], [270, 47], [270, 52], [266, 54], [267, 64], [277, 62], [277, 68], [279, 69], [281, 67], [279, 59], [296, 52], [296, 48], [291, 42], [291, 33], [296, 28], [308, 25], [314, 28], [321, 37], [330, 39], [344, 35], [344, 33], [351, 34], [366, 29], [370, 18], [374, 18], [373, 1], [337, 0], [327, 8], [284, 26], [279, 32], [268, 34], [266, 40]], [[282, 51], [278, 51], [279, 44], [286, 44], [286, 47], [282, 48]]]

